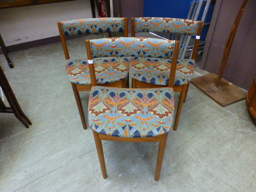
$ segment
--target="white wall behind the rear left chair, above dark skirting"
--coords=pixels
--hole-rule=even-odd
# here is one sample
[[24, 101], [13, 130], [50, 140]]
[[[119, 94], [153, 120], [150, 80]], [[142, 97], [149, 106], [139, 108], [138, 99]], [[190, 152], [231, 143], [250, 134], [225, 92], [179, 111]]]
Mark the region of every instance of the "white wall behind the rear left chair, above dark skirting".
[[0, 33], [6, 46], [58, 36], [57, 21], [92, 18], [90, 0], [0, 9]]

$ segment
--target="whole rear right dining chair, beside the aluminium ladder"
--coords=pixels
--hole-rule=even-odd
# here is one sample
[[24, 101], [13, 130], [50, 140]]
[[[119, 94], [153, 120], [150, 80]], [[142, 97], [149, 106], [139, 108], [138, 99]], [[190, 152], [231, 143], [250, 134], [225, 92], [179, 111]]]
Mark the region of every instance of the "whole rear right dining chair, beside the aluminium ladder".
[[[196, 54], [202, 31], [202, 21], [142, 17], [132, 18], [132, 37], [138, 32], [162, 32], [196, 36], [191, 59], [178, 59], [174, 80], [174, 92], [180, 92], [173, 130], [177, 130], [183, 103], [186, 101], [190, 80], [194, 73]], [[173, 65], [171, 59], [138, 58], [130, 62], [130, 76], [133, 88], [166, 87], [169, 72]]]

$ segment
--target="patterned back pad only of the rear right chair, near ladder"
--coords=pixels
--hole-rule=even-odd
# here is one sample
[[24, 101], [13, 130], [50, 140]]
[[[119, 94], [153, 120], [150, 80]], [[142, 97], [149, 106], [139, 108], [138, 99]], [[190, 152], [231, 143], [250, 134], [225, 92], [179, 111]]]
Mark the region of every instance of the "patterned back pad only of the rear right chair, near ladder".
[[196, 36], [198, 26], [199, 21], [187, 19], [159, 17], [135, 18], [135, 32], [164, 32]]

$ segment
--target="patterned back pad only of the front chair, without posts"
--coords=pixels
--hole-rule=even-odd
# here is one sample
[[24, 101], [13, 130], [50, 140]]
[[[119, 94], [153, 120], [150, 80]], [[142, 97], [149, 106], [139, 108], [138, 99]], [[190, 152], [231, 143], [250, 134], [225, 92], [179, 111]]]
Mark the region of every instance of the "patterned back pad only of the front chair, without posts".
[[175, 41], [156, 38], [119, 37], [90, 40], [92, 57], [140, 56], [173, 58]]

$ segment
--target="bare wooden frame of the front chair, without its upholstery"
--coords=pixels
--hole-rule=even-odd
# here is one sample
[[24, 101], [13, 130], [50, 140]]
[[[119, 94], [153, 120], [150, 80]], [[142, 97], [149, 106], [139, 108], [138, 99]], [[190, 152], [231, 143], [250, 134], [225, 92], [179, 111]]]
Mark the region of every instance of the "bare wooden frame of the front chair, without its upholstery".
[[[175, 61], [177, 62], [178, 59], [178, 49], [180, 46], [179, 41], [175, 41], [175, 47], [174, 47], [174, 54], [173, 54], [173, 61], [174, 65], [171, 66], [171, 72], [170, 72], [170, 78], [169, 78], [169, 84], [168, 87], [174, 86], [174, 77], [175, 77], [175, 72], [176, 72], [176, 64]], [[88, 59], [92, 60], [92, 53], [90, 49], [90, 40], [86, 40], [86, 50], [88, 54]], [[90, 68], [90, 76], [92, 80], [92, 86], [96, 86], [96, 75], [95, 75], [95, 70], [94, 70], [94, 64], [89, 64]], [[164, 159], [164, 153], [165, 153], [165, 148], [166, 148], [166, 142], [168, 138], [168, 133], [156, 136], [156, 137], [146, 137], [146, 138], [124, 138], [124, 137], [115, 137], [115, 136], [108, 136], [104, 134], [99, 134], [97, 132], [93, 131], [94, 135], [94, 140], [95, 140], [95, 145], [98, 153], [98, 158], [100, 161], [100, 168], [102, 171], [102, 176], [104, 179], [107, 178], [107, 172], [106, 172], [106, 164], [105, 164], [105, 159], [104, 159], [104, 153], [103, 153], [103, 148], [102, 148], [102, 140], [108, 140], [108, 141], [119, 141], [119, 142], [160, 142], [159, 144], [159, 149], [158, 149], [158, 157], [157, 157], [157, 164], [156, 164], [156, 173], [155, 173], [155, 181], [159, 180], [160, 177], [160, 172], [162, 168], [162, 163]]]

